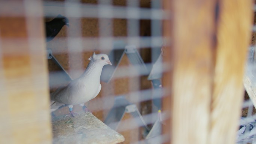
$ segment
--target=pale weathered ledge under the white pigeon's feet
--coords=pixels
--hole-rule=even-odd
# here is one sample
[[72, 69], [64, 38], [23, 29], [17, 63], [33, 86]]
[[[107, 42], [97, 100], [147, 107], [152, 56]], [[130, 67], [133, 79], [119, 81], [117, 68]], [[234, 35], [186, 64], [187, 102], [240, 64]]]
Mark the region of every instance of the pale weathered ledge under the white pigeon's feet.
[[118, 144], [124, 137], [89, 112], [52, 119], [53, 144]]

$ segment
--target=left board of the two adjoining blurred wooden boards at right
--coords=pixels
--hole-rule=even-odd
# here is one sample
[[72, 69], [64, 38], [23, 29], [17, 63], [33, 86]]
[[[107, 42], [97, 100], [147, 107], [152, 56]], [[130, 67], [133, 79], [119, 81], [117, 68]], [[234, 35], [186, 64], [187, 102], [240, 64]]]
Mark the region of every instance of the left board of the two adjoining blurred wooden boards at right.
[[208, 140], [215, 5], [215, 0], [166, 0], [164, 4], [171, 15], [164, 24], [164, 61], [172, 66], [163, 78], [164, 88], [171, 92], [163, 100], [164, 111], [171, 115], [164, 132], [170, 132], [172, 144], [206, 144]]

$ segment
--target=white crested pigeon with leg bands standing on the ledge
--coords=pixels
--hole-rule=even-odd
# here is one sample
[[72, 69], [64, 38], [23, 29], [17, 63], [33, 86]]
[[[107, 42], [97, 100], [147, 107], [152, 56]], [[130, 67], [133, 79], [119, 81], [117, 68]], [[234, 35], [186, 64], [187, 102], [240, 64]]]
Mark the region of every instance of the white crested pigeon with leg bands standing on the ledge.
[[101, 90], [100, 75], [102, 68], [104, 65], [112, 64], [106, 54], [93, 53], [89, 60], [89, 64], [79, 78], [51, 93], [52, 111], [65, 105], [69, 107], [70, 115], [74, 117], [73, 105], [80, 104], [83, 108], [86, 108], [84, 103], [99, 94]]

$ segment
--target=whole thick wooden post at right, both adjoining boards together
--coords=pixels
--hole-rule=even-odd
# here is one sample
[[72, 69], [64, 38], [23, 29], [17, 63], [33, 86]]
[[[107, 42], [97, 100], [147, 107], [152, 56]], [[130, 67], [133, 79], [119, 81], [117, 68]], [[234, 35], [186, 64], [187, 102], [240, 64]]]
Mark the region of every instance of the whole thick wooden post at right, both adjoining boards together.
[[164, 132], [172, 144], [235, 143], [252, 1], [166, 0], [165, 6], [171, 44], [164, 59], [173, 67], [163, 79], [171, 88], [163, 102], [171, 110]]

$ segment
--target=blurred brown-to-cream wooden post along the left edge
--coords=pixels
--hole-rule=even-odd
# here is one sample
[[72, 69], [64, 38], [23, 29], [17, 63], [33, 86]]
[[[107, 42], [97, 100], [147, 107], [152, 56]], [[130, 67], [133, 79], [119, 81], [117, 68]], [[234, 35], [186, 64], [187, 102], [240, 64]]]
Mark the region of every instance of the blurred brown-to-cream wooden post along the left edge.
[[0, 1], [0, 11], [0, 143], [51, 144], [42, 1]]

